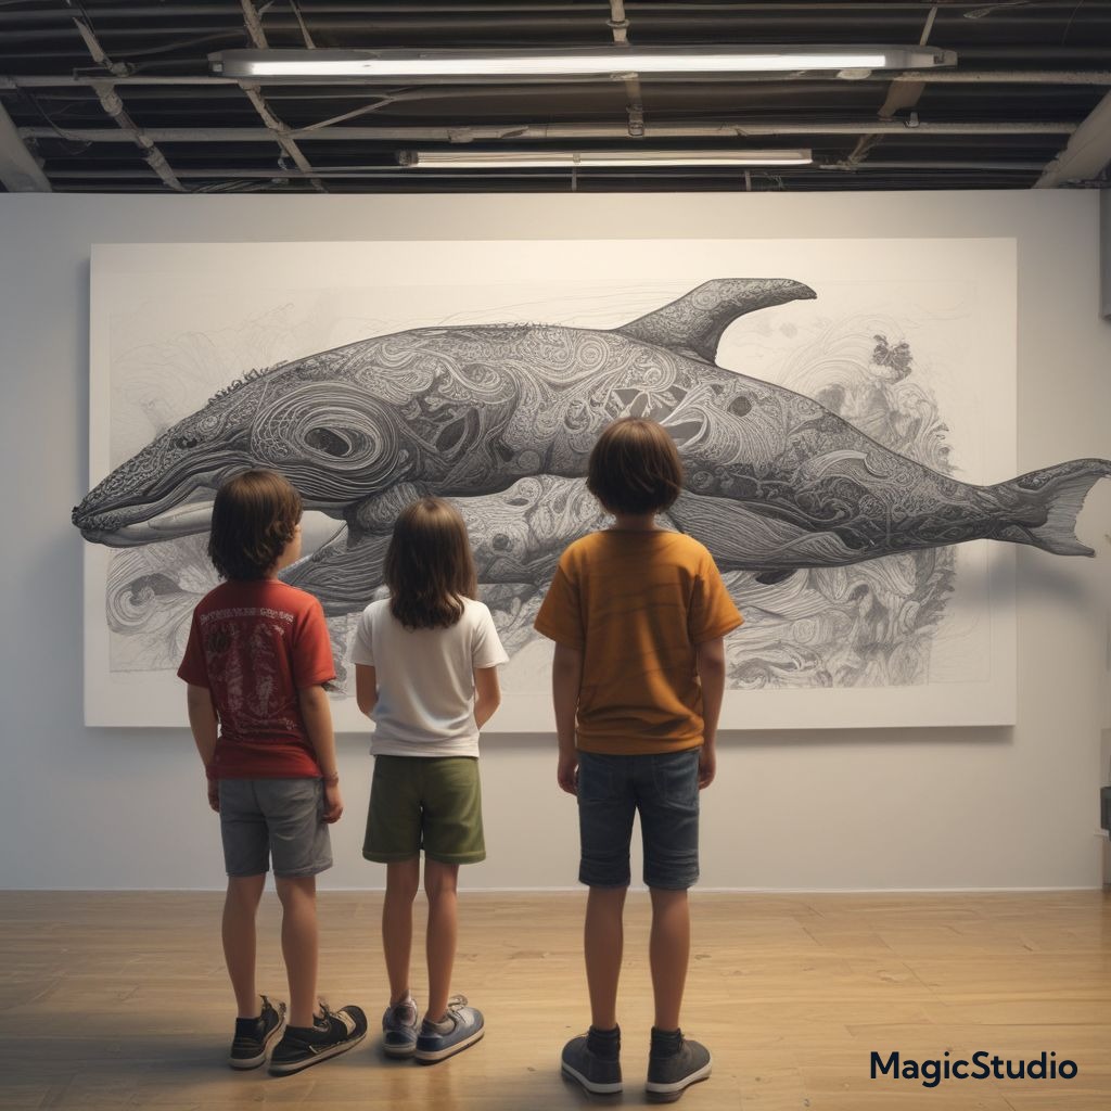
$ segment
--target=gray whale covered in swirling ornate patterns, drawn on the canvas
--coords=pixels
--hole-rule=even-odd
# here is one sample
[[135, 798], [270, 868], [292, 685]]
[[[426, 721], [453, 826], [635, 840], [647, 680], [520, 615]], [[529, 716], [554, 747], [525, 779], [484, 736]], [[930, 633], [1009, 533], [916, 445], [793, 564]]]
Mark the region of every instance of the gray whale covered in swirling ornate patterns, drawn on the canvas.
[[[199, 534], [226, 478], [272, 468], [337, 522], [284, 577], [341, 618], [380, 585], [401, 506], [439, 494], [467, 519], [484, 597], [519, 613], [563, 547], [601, 523], [582, 481], [598, 433], [640, 416], [660, 421], [683, 459], [670, 526], [763, 587], [977, 539], [1093, 554], [1075, 519], [1111, 461], [961, 482], [830, 404], [717, 364], [734, 320], [814, 297], [791, 279], [714, 279], [613, 329], [414, 328], [253, 371], [116, 468], [72, 521], [121, 549]], [[150, 574], [138, 578], [149, 591]], [[882, 594], [887, 578], [870, 591]]]

